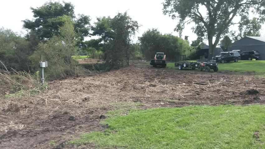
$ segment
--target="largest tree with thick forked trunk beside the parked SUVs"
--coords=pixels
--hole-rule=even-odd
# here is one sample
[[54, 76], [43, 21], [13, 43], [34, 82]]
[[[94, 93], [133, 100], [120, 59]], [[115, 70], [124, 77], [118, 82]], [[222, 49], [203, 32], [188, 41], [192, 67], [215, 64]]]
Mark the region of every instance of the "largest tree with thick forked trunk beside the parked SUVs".
[[240, 23], [233, 22], [235, 16], [240, 16], [243, 22], [252, 10], [262, 19], [265, 12], [264, 0], [165, 0], [163, 6], [165, 15], [180, 19], [175, 28], [180, 34], [186, 22], [195, 23], [193, 32], [208, 39], [209, 57], [213, 56], [215, 47], [220, 38], [229, 32], [229, 27]]

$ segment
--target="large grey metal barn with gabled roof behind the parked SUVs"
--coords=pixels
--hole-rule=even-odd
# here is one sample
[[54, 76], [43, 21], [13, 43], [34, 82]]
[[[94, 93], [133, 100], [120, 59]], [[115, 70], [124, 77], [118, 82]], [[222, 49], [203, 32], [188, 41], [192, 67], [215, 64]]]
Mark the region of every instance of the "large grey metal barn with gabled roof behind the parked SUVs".
[[232, 43], [232, 47], [228, 47], [228, 51], [241, 50], [244, 51], [258, 51], [261, 59], [265, 60], [265, 37], [246, 36], [239, 41]]

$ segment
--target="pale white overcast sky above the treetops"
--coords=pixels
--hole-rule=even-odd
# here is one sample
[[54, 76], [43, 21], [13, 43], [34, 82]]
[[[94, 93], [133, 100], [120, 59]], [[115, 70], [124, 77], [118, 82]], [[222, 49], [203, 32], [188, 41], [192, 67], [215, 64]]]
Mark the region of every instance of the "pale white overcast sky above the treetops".
[[[33, 13], [30, 7], [41, 7], [48, 0], [5, 0], [1, 2], [0, 7], [0, 27], [11, 29], [15, 32], [24, 32], [22, 29], [22, 20], [33, 19]], [[62, 3], [62, 1], [60, 1]], [[172, 20], [171, 17], [163, 15], [162, 2], [164, 0], [65, 0], [65, 2], [71, 2], [75, 6], [75, 15], [84, 14], [90, 16], [91, 24], [96, 22], [96, 17], [110, 16], [113, 18], [117, 12], [127, 14], [137, 21], [142, 26], [139, 29], [138, 36], [148, 29], [157, 28], [162, 34], [171, 33], [174, 36], [179, 36], [174, 28], [177, 24], [177, 20]], [[264, 26], [264, 25], [263, 25]], [[197, 36], [191, 31], [192, 25], [187, 25], [182, 33], [184, 36], [189, 36], [188, 40], [193, 41], [197, 39]], [[263, 27], [264, 28], [264, 27]], [[262, 34], [264, 36], [264, 34]], [[208, 44], [208, 41], [207, 41]]]

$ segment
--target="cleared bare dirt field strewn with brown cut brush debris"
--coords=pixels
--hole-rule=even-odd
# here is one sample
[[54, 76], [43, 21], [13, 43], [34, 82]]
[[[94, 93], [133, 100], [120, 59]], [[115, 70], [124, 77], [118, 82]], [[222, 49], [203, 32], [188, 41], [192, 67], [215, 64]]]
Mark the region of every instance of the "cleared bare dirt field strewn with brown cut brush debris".
[[95, 148], [94, 144], [81, 147], [68, 142], [81, 132], [104, 131], [100, 119], [123, 104], [148, 109], [265, 103], [264, 78], [252, 73], [230, 75], [229, 71], [207, 73], [134, 64], [48, 85], [35, 96], [0, 99], [1, 149]]

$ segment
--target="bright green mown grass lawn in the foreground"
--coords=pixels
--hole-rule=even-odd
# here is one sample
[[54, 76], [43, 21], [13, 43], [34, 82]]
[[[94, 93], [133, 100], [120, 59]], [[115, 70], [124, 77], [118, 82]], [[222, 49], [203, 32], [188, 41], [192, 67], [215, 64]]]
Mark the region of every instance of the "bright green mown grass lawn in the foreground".
[[265, 106], [188, 106], [131, 111], [104, 132], [70, 143], [96, 148], [265, 148]]

